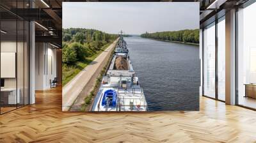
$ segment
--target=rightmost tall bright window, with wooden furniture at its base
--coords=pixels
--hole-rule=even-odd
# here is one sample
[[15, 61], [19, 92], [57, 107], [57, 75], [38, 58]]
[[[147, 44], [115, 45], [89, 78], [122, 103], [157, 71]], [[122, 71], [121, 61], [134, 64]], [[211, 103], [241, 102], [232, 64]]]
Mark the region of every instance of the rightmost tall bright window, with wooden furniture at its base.
[[237, 102], [256, 109], [256, 3], [237, 11]]

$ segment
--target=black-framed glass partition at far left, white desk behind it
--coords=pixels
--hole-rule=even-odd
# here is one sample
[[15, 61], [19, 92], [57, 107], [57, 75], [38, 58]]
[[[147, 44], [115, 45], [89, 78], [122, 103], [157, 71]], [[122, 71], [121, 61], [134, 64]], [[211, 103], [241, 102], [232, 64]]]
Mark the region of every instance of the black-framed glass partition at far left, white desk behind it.
[[[12, 6], [25, 8], [25, 3], [12, 1]], [[0, 16], [0, 114], [3, 114], [29, 104], [29, 22], [1, 8]]]

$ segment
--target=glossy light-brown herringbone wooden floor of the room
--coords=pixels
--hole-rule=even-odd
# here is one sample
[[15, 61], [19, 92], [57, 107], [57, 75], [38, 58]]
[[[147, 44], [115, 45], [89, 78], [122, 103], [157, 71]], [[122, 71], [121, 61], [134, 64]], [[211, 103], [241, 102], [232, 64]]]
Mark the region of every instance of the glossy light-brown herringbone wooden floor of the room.
[[200, 98], [199, 112], [61, 112], [61, 88], [0, 116], [0, 142], [256, 142], [256, 112]]

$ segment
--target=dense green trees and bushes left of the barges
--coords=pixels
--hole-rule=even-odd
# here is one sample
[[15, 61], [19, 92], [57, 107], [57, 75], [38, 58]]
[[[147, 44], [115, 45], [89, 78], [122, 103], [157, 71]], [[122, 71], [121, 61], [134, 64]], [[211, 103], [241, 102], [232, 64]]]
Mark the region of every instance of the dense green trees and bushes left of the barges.
[[117, 38], [116, 34], [108, 34], [95, 29], [69, 28], [62, 29], [62, 61], [74, 64], [91, 57], [104, 45]]

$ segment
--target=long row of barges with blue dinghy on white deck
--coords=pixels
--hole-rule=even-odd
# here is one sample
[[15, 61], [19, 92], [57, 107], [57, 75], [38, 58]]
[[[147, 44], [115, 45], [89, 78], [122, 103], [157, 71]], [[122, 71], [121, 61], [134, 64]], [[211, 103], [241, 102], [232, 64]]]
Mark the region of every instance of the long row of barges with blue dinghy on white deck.
[[145, 94], [132, 68], [122, 32], [92, 111], [147, 111]]

